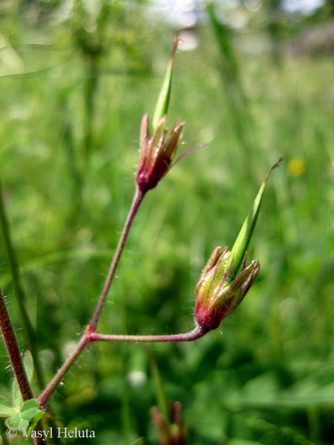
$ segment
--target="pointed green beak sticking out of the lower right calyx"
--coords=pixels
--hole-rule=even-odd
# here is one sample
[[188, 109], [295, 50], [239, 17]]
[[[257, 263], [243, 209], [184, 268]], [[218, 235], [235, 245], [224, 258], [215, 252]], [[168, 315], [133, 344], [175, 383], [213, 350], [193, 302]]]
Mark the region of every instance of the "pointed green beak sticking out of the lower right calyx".
[[244, 223], [242, 224], [242, 227], [241, 227], [241, 230], [239, 231], [237, 240], [234, 243], [234, 246], [231, 250], [229, 261], [227, 262], [226, 267], [225, 267], [225, 272], [226, 272], [228, 270], [228, 268], [230, 267], [232, 260], [233, 260], [233, 265], [232, 265], [231, 271], [230, 271], [231, 276], [236, 275], [236, 273], [239, 269], [239, 266], [241, 264], [241, 261], [243, 260], [246, 249], [248, 247], [250, 238], [253, 234], [253, 230], [254, 230], [254, 227], [255, 227], [255, 224], [257, 221], [257, 217], [260, 212], [264, 189], [266, 187], [269, 175], [272, 172], [272, 170], [274, 170], [275, 168], [280, 166], [281, 162], [282, 162], [282, 158], [280, 158], [276, 162], [276, 164], [274, 164], [269, 169], [266, 177], [264, 178], [264, 181], [261, 184], [260, 190], [259, 190], [258, 194], [256, 195], [253, 205], [252, 205]]

